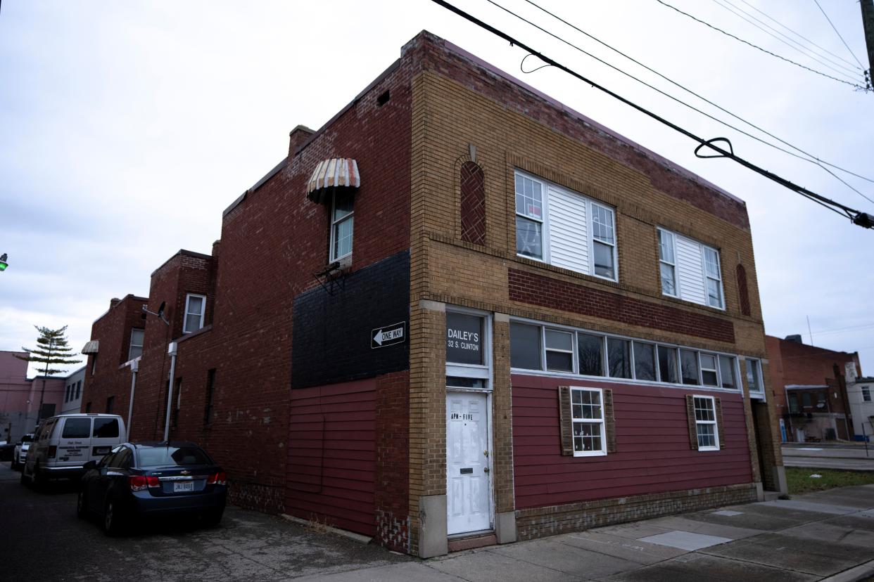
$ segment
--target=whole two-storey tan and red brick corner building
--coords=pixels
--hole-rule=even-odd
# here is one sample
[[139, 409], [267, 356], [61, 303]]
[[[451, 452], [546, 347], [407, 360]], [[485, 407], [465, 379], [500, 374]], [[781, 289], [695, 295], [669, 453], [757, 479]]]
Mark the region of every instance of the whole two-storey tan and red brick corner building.
[[[142, 301], [85, 401], [127, 405]], [[744, 202], [427, 32], [148, 310], [133, 438], [176, 346], [170, 435], [236, 503], [399, 551], [785, 490]]]

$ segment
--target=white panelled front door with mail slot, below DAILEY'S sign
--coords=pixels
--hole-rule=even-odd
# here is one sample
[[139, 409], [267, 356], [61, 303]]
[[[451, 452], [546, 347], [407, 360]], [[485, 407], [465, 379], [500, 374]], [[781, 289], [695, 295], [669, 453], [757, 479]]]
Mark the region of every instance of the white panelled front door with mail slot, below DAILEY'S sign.
[[491, 528], [489, 414], [485, 394], [446, 396], [447, 533]]

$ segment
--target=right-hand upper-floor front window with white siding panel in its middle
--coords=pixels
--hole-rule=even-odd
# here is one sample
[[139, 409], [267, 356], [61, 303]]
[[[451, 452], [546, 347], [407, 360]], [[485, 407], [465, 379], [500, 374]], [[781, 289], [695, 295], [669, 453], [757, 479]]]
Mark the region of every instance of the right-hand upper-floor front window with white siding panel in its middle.
[[658, 245], [662, 295], [725, 309], [718, 250], [662, 228]]

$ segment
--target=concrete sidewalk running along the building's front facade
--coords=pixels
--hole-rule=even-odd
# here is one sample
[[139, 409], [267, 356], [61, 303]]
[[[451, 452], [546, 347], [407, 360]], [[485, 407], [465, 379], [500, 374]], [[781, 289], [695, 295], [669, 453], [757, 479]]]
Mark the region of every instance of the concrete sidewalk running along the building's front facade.
[[864, 580], [874, 485], [569, 533], [295, 580]]

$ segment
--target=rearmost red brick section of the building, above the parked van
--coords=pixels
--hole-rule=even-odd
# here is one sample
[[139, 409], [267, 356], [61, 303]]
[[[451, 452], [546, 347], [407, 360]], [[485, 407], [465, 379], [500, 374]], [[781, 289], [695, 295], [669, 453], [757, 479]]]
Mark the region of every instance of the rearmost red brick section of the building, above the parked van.
[[[110, 305], [109, 311], [98, 318], [91, 326], [91, 339], [100, 341], [97, 366], [94, 369], [94, 355], [87, 358], [85, 381], [82, 383], [82, 411], [91, 402], [91, 412], [106, 411], [107, 399], [114, 397], [113, 412], [128, 419], [131, 372], [122, 366], [128, 360], [130, 350], [130, 331], [142, 329], [146, 321], [142, 318], [142, 305], [148, 298], [133, 295]], [[94, 374], [91, 373], [94, 369]]]

